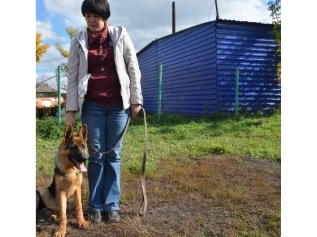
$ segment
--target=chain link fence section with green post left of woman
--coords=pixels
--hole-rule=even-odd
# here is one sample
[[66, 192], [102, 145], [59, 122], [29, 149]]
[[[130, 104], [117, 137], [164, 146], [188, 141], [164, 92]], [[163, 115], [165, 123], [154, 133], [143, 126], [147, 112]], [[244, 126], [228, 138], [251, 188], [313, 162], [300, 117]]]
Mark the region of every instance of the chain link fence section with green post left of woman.
[[[58, 113], [58, 94], [60, 94], [60, 110], [65, 106], [67, 90], [67, 74], [58, 73], [58, 68], [36, 70], [36, 118], [56, 117]], [[60, 86], [58, 86], [60, 85]]]

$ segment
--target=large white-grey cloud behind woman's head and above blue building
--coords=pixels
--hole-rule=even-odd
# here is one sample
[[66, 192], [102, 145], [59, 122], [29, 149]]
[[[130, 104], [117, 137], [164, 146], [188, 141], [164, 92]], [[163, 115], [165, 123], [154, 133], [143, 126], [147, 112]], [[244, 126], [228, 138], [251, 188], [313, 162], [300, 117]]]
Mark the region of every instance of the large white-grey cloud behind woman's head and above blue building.
[[[82, 28], [82, 0], [44, 0], [47, 10], [61, 17], [67, 26]], [[178, 0], [176, 2], [176, 31], [208, 21], [211, 0]], [[111, 25], [127, 28], [136, 50], [152, 40], [171, 34], [172, 3], [170, 0], [109, 0]], [[220, 19], [270, 23], [267, 6], [262, 0], [218, 1]], [[213, 5], [210, 20], [215, 20]]]

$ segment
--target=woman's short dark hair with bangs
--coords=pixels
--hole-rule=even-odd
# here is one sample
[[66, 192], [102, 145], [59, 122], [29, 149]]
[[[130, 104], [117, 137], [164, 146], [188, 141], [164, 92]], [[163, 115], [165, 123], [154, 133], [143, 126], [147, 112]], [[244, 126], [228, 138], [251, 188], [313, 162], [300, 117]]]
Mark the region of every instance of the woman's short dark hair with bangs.
[[84, 0], [81, 5], [83, 16], [85, 13], [95, 13], [107, 21], [110, 17], [110, 7], [107, 0]]

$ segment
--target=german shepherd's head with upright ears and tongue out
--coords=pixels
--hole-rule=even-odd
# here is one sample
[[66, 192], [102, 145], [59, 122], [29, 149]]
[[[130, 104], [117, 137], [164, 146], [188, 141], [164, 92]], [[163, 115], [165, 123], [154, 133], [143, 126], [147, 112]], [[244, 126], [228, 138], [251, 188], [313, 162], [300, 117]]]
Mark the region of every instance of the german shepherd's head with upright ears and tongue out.
[[84, 162], [87, 160], [87, 125], [83, 124], [78, 133], [74, 134], [73, 126], [68, 123], [63, 137], [63, 154], [79, 171], [87, 169]]

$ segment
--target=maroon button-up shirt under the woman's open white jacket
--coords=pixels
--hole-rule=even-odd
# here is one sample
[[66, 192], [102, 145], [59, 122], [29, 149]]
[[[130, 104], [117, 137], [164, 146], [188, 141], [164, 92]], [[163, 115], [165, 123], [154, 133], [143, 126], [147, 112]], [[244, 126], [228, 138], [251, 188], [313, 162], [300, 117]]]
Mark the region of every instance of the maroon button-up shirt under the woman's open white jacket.
[[88, 90], [85, 99], [97, 104], [122, 102], [120, 83], [113, 59], [113, 46], [105, 24], [103, 32], [88, 34]]

